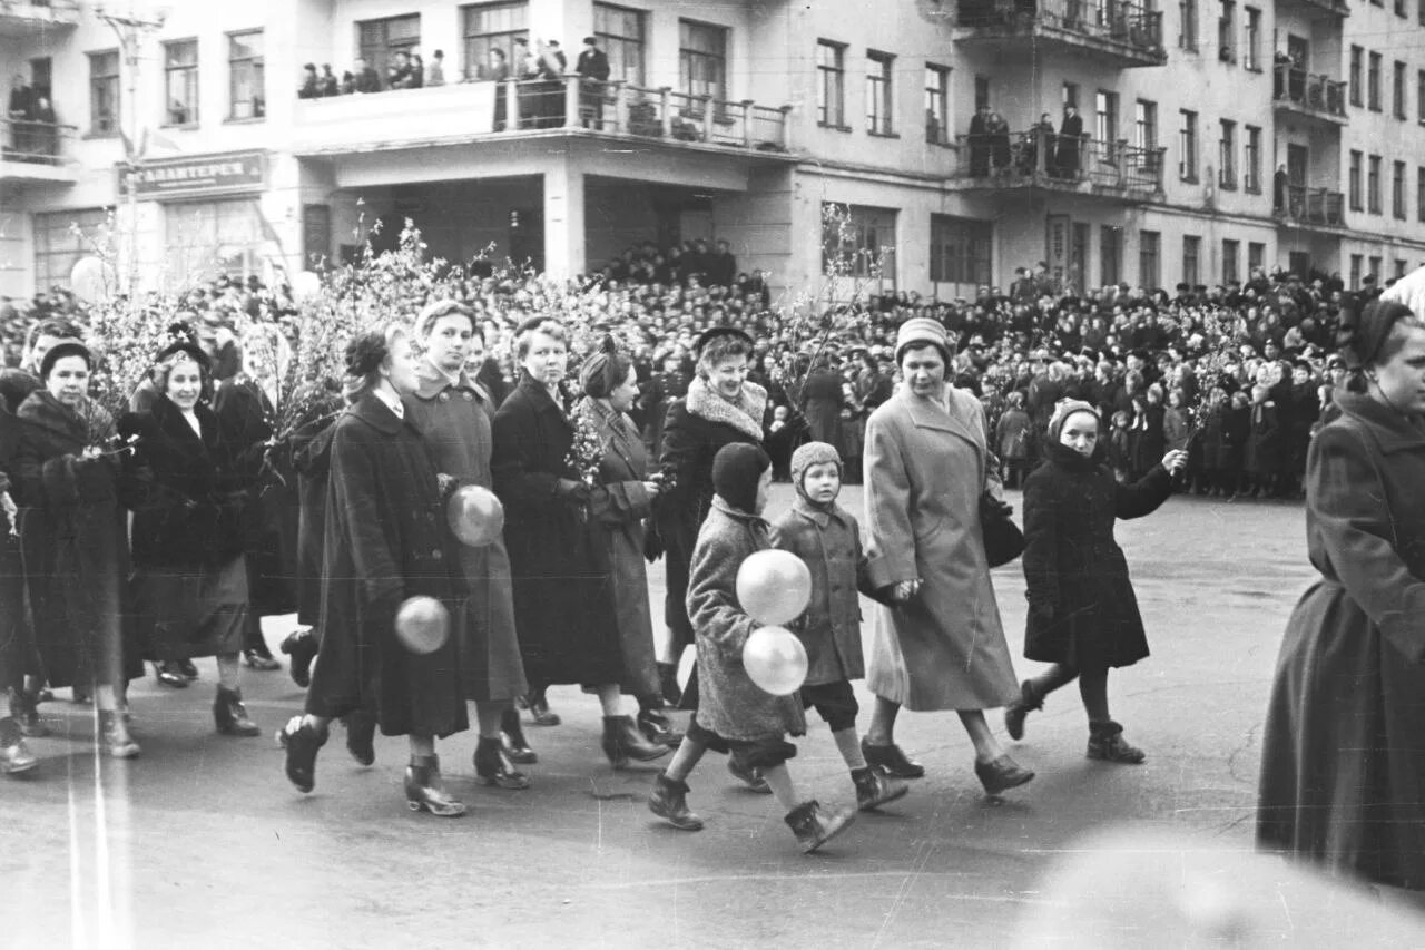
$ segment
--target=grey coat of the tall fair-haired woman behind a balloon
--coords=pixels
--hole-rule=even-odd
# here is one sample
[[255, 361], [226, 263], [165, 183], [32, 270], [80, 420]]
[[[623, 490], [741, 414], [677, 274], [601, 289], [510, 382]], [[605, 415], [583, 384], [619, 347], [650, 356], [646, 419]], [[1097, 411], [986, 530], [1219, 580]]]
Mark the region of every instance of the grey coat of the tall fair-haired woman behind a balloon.
[[[494, 405], [470, 377], [450, 381], [422, 362], [420, 387], [406, 405], [425, 435], [436, 471], [463, 485], [494, 486], [490, 475]], [[470, 588], [452, 618], [460, 643], [460, 682], [476, 700], [513, 700], [529, 692], [514, 628], [514, 585], [504, 538], [483, 548], [459, 546], [460, 569]]]

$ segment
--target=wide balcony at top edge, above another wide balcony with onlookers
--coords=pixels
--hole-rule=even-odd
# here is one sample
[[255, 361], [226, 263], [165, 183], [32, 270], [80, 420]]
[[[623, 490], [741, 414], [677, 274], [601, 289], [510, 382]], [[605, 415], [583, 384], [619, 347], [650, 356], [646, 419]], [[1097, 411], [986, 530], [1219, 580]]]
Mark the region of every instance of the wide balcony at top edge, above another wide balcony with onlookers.
[[1123, 0], [959, 0], [955, 41], [1003, 61], [1045, 50], [1116, 68], [1163, 66], [1163, 14]]

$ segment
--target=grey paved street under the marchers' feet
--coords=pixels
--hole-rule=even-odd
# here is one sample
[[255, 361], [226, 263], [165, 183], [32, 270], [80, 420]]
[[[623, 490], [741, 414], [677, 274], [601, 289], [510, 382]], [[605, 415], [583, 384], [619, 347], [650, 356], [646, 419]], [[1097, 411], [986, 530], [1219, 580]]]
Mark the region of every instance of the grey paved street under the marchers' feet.
[[[774, 511], [788, 496], [778, 486]], [[856, 489], [842, 501], [859, 514]], [[41, 769], [0, 783], [7, 902], [27, 909], [7, 917], [0, 944], [1005, 946], [1043, 900], [1049, 857], [1087, 829], [1133, 820], [1208, 847], [1251, 846], [1267, 685], [1285, 618], [1312, 576], [1301, 508], [1176, 498], [1153, 518], [1120, 522], [1119, 536], [1153, 656], [1114, 673], [1110, 698], [1149, 752], [1141, 767], [1083, 757], [1083, 712], [1069, 689], [1013, 747], [1039, 777], [988, 803], [953, 715], [906, 715], [899, 739], [928, 777], [804, 857], [772, 799], [734, 787], [718, 756], [691, 779], [708, 827], [663, 826], [644, 806], [657, 767], [611, 772], [597, 703], [559, 688], [550, 702], [564, 725], [527, 729], [542, 757], [529, 767], [534, 787], [476, 786], [465, 733], [440, 752], [472, 810], [436, 820], [405, 809], [403, 739], [379, 739], [376, 766], [361, 769], [333, 729], [315, 793], [298, 795], [271, 733], [299, 709], [301, 692], [285, 672], [249, 675], [248, 706], [266, 735], [219, 737], [208, 660], [188, 690], [135, 683], [144, 755], [101, 762], [101, 780], [87, 708], [63, 695], [43, 708], [57, 737], [34, 742]], [[1017, 656], [1017, 563], [996, 573], [996, 589]], [[285, 629], [268, 633], [276, 643]], [[1017, 663], [1020, 673], [1030, 666]], [[819, 720], [799, 749], [792, 767], [807, 787], [824, 802], [852, 799]]]

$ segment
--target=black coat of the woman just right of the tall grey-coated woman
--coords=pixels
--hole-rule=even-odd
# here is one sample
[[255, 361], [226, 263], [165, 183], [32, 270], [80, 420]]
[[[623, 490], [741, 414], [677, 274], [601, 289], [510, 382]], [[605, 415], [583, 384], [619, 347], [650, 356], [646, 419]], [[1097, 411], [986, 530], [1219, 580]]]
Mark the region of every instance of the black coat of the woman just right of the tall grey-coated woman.
[[526, 375], [494, 414], [490, 468], [504, 502], [504, 545], [514, 579], [514, 622], [534, 686], [617, 683], [624, 675], [613, 578], [586, 499], [560, 498], [579, 481], [574, 429], [542, 384]]

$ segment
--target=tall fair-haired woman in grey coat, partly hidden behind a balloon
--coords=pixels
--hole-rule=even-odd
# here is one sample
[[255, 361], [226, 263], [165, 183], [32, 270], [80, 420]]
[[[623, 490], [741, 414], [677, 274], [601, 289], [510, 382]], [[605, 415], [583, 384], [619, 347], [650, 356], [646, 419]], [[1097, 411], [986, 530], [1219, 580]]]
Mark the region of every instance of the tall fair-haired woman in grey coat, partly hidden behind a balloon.
[[[475, 312], [456, 301], [429, 304], [416, 321], [425, 351], [419, 387], [408, 399], [410, 419], [425, 435], [436, 469], [462, 485], [492, 488], [490, 449], [494, 405], [466, 372], [484, 362], [484, 337]], [[480, 737], [475, 773], [486, 785], [527, 789], [513, 762], [534, 762], [514, 700], [529, 690], [514, 632], [514, 593], [504, 539], [483, 548], [460, 545], [460, 568], [470, 595], [453, 618], [462, 692], [475, 702]], [[503, 726], [503, 729], [502, 729]], [[502, 740], [509, 736], [509, 749]]]

